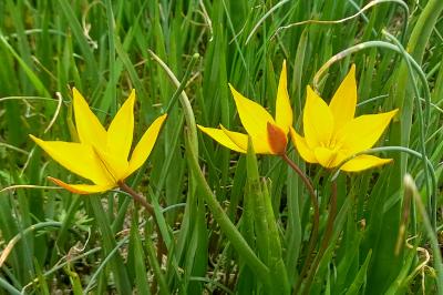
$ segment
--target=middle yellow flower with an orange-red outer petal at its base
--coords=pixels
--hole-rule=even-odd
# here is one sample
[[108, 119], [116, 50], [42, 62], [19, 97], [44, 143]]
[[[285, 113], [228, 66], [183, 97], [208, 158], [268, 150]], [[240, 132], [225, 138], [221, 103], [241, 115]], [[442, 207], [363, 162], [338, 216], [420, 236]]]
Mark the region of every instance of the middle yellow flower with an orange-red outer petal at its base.
[[[230, 91], [240, 116], [241, 124], [253, 140], [254, 150], [258, 154], [284, 154], [288, 142], [289, 129], [292, 125], [292, 109], [287, 90], [286, 61], [284, 61], [276, 100], [276, 119], [260, 104], [246, 99], [230, 84]], [[226, 148], [246, 153], [248, 135], [220, 129], [198, 128]]]

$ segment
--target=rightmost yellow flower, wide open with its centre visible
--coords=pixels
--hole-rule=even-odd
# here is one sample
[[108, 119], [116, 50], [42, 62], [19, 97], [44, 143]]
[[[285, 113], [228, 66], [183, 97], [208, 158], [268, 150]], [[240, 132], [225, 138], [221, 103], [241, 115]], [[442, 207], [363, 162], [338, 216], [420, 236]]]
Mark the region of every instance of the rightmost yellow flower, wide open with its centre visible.
[[[331, 102], [326, 102], [308, 87], [303, 111], [305, 138], [291, 128], [291, 138], [301, 157], [309, 163], [332, 169], [346, 159], [370, 149], [380, 139], [398, 110], [354, 118], [357, 106], [356, 67], [337, 90]], [[383, 165], [392, 159], [358, 155], [340, 170], [357, 172]]]

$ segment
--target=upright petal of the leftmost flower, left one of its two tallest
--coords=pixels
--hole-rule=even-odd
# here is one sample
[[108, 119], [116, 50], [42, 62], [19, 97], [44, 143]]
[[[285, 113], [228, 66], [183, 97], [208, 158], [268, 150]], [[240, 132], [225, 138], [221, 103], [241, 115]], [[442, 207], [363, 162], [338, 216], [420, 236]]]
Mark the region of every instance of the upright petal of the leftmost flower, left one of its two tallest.
[[101, 146], [106, 142], [106, 131], [90, 110], [82, 94], [72, 89], [76, 132], [80, 142]]

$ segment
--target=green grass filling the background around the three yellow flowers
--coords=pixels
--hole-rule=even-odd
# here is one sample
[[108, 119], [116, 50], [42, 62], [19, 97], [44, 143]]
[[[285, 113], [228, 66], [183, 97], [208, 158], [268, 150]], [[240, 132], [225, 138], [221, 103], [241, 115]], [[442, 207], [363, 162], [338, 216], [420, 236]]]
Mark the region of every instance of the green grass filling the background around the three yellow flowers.
[[[297, 292], [311, 294], [443, 292], [437, 251], [443, 2], [367, 4], [0, 1], [0, 247], [8, 255], [0, 293], [282, 294], [299, 282]], [[150, 50], [187, 98], [177, 96], [177, 84]], [[320, 202], [320, 240], [310, 255], [309, 196], [280, 159], [256, 162], [199, 133], [198, 142], [193, 140], [194, 120], [241, 131], [228, 82], [274, 113], [284, 59], [297, 130], [306, 85], [329, 100], [351, 63], [359, 81], [358, 114], [401, 109], [381, 141], [392, 148], [378, 153], [394, 163], [339, 175], [338, 215], [324, 255], [318, 254], [328, 232], [330, 172], [305, 165], [289, 145], [290, 157], [315, 181]], [[35, 149], [28, 134], [75, 138], [71, 87], [103, 123], [135, 88], [136, 139], [171, 104], [153, 154], [128, 180], [155, 206], [159, 231], [121, 193], [78, 196], [48, 183], [48, 175], [78, 179]], [[183, 106], [186, 102], [193, 112]], [[193, 166], [194, 155], [205, 179]], [[416, 191], [403, 185], [406, 172]], [[51, 187], [8, 189], [29, 184]], [[205, 206], [214, 196], [237, 236], [241, 233], [266, 265], [269, 282], [254, 260], [238, 255], [234, 228], [220, 226], [220, 212]], [[257, 200], [270, 201], [272, 214], [259, 215]], [[262, 231], [264, 220], [265, 228], [275, 231]], [[311, 258], [318, 267], [309, 283], [300, 272]]]

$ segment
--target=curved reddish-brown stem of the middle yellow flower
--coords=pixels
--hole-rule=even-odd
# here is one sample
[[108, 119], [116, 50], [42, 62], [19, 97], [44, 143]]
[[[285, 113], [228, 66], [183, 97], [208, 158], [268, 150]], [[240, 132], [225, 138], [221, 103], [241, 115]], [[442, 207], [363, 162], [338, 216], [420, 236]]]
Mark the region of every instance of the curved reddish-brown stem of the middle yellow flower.
[[319, 204], [317, 201], [316, 191], [313, 190], [313, 185], [312, 185], [311, 181], [308, 179], [308, 176], [305, 174], [305, 172], [302, 172], [301, 169], [296, 163], [293, 163], [292, 160], [290, 160], [288, 157], [287, 154], [285, 154], [285, 153], [281, 154], [281, 157], [300, 176], [301, 181], [305, 183], [305, 186], [309, 192], [309, 196], [311, 199], [311, 203], [313, 206], [312, 232], [311, 232], [311, 236], [309, 238], [308, 255], [305, 261], [303, 267], [301, 268], [301, 273], [300, 273], [299, 279], [297, 282], [297, 285], [293, 288], [293, 294], [298, 294], [298, 291], [301, 286], [301, 282], [303, 281], [303, 276], [310, 268], [311, 257], [312, 257], [313, 251], [316, 248], [317, 237], [318, 237], [318, 228], [319, 228], [319, 222], [320, 222], [320, 210], [319, 210]]

